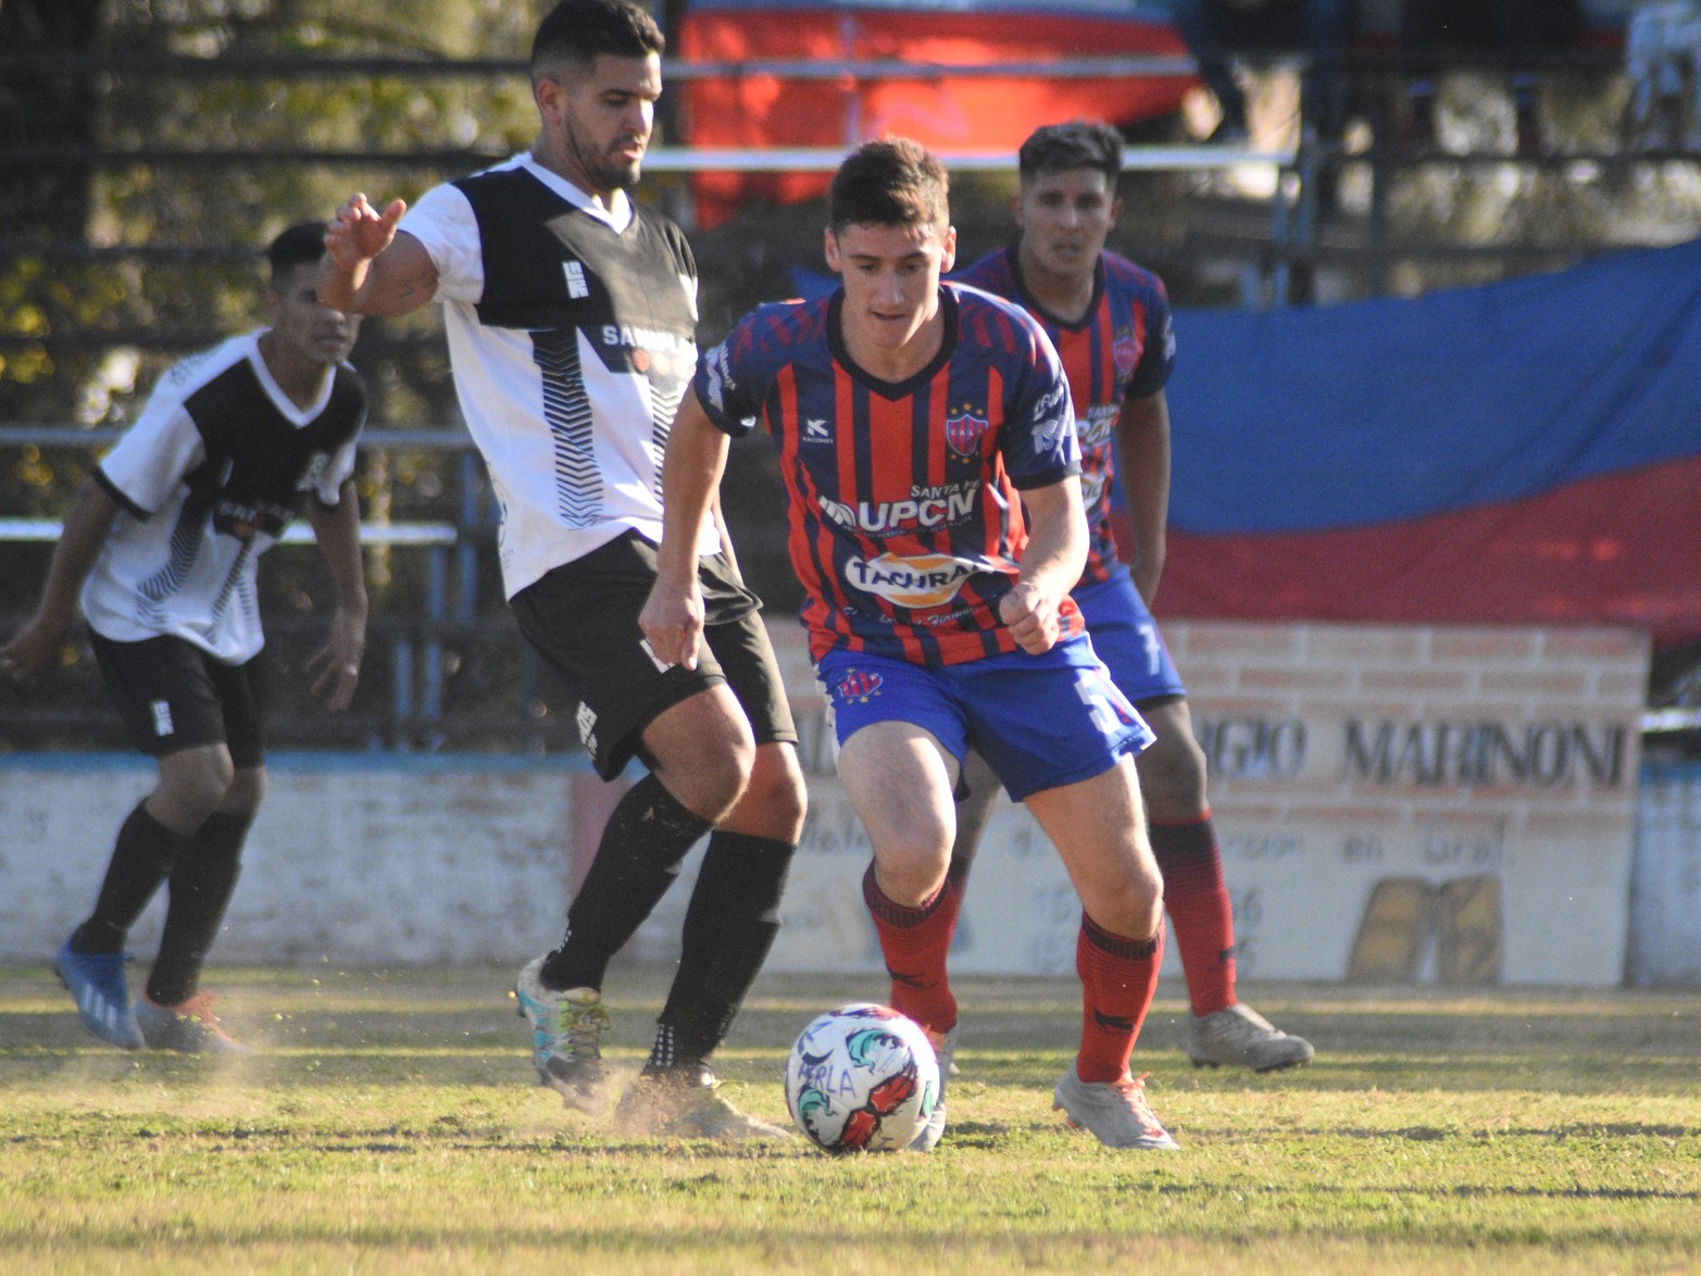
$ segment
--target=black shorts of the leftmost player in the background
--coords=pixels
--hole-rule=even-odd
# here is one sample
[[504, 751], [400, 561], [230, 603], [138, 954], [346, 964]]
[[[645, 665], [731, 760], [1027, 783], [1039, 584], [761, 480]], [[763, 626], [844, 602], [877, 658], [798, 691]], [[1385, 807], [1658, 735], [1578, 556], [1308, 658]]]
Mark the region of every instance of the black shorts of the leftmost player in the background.
[[148, 757], [223, 743], [238, 767], [265, 760], [265, 652], [228, 665], [185, 638], [116, 643], [88, 635], [100, 677], [134, 745]]

